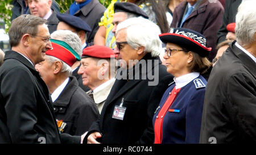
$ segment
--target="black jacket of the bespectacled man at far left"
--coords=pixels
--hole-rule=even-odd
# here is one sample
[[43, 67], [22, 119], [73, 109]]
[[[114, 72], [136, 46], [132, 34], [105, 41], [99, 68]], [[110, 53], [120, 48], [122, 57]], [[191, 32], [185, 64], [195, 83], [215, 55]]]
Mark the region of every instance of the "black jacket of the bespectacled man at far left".
[[80, 143], [59, 134], [52, 100], [27, 58], [6, 51], [0, 68], [0, 143]]

